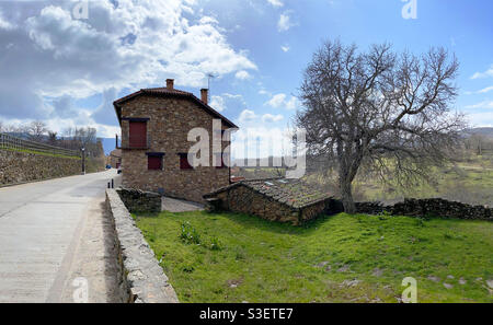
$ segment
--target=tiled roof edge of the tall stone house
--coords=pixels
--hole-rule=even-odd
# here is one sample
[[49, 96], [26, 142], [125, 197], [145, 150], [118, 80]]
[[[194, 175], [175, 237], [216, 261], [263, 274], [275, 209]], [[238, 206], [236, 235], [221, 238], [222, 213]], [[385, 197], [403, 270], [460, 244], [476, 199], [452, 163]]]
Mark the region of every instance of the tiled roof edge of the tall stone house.
[[122, 104], [130, 101], [137, 96], [140, 95], [150, 95], [150, 96], [179, 96], [179, 97], [184, 97], [184, 98], [188, 98], [193, 102], [195, 102], [196, 104], [198, 104], [202, 108], [204, 108], [207, 113], [209, 113], [210, 115], [220, 118], [221, 120], [223, 120], [229, 127], [231, 128], [238, 128], [238, 126], [236, 126], [231, 120], [229, 120], [228, 118], [226, 118], [225, 116], [222, 116], [221, 114], [219, 114], [216, 109], [214, 109], [213, 107], [210, 107], [209, 105], [207, 105], [206, 103], [204, 103], [203, 101], [200, 101], [199, 98], [197, 98], [193, 93], [188, 93], [188, 92], [184, 92], [181, 90], [169, 90], [167, 88], [148, 88], [148, 89], [141, 89], [138, 92], [131, 93], [127, 96], [124, 96], [119, 100], [116, 100], [115, 102], [113, 102], [113, 106], [115, 107], [115, 112], [116, 115], [118, 117], [118, 121], [122, 124]]

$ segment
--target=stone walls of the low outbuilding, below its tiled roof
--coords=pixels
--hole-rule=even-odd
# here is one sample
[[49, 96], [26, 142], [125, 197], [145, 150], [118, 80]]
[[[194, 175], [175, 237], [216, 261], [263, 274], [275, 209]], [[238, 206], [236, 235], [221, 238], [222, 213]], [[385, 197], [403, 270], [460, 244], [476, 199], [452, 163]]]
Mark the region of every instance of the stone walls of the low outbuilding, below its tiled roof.
[[328, 209], [328, 201], [297, 209], [262, 195], [246, 186], [234, 186], [217, 194], [219, 208], [222, 210], [257, 216], [276, 222], [289, 222], [300, 225]]

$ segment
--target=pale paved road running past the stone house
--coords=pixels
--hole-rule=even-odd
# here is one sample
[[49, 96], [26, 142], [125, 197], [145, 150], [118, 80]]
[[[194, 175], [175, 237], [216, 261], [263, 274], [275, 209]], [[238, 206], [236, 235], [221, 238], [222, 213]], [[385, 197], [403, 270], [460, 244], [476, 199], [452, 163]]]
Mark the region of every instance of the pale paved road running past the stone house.
[[80, 264], [89, 244], [96, 282], [89, 292], [98, 290], [90, 301], [113, 299], [102, 204], [115, 176], [107, 171], [0, 188], [0, 302], [71, 302], [72, 276], [85, 276]]

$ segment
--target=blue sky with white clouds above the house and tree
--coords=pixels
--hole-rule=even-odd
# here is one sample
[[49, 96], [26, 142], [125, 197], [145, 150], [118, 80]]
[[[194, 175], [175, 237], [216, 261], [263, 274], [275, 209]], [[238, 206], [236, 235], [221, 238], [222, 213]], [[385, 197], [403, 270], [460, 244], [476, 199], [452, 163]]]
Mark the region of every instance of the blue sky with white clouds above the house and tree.
[[118, 131], [112, 102], [174, 78], [194, 92], [211, 81], [211, 105], [249, 135], [291, 121], [301, 73], [324, 39], [360, 49], [389, 42], [415, 54], [444, 46], [460, 62], [455, 109], [493, 126], [493, 1], [400, 0], [0, 1], [0, 120], [45, 119], [62, 132]]

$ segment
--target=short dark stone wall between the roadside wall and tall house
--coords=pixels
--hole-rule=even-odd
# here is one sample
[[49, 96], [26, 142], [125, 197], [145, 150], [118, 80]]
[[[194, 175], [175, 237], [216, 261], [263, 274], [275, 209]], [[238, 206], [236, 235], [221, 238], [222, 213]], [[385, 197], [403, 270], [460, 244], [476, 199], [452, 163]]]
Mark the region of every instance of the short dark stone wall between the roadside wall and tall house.
[[161, 195], [134, 188], [116, 189], [130, 212], [161, 212]]

